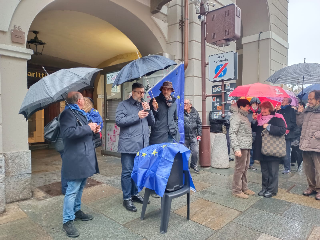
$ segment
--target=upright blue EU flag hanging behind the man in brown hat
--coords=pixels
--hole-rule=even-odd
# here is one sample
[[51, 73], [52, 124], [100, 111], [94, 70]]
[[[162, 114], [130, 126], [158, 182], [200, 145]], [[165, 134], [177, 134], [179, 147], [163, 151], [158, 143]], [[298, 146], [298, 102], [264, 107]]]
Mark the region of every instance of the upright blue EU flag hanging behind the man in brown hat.
[[181, 63], [174, 68], [167, 76], [159, 81], [154, 87], [148, 90], [152, 91], [153, 96], [159, 96], [160, 87], [165, 81], [172, 82], [174, 96], [177, 100], [178, 127], [180, 133], [180, 143], [184, 143], [184, 64]]

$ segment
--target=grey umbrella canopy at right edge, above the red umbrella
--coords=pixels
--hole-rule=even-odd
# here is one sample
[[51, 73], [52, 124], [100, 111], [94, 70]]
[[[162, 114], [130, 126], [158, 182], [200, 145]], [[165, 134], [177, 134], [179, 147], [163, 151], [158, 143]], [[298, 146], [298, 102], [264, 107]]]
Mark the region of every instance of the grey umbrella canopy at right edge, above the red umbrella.
[[299, 63], [276, 71], [267, 82], [282, 84], [313, 84], [320, 80], [320, 64]]

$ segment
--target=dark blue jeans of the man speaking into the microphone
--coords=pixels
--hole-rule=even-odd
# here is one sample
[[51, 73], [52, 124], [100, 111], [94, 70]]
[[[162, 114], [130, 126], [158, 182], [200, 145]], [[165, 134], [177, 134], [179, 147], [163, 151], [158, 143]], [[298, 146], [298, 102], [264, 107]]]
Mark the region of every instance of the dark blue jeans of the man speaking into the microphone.
[[131, 178], [135, 156], [136, 154], [121, 153], [121, 187], [123, 192], [123, 200], [128, 200], [131, 198], [131, 196], [138, 194], [137, 185]]

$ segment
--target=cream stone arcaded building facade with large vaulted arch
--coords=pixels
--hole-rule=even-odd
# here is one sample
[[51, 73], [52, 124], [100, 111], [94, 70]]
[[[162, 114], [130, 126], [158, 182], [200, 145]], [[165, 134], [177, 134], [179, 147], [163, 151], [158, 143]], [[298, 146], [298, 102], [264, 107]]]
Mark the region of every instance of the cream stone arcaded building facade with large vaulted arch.
[[[111, 79], [111, 73], [117, 71], [121, 64], [148, 54], [163, 54], [177, 62], [183, 61], [185, 2], [1, 1], [0, 212], [5, 210], [6, 203], [32, 196], [32, 160], [28, 144], [30, 123], [18, 114], [28, 88], [29, 66], [60, 69], [88, 66], [103, 69], [96, 81], [93, 98], [98, 110], [109, 108], [107, 114], [110, 115], [114, 107], [111, 103], [125, 98], [130, 89], [129, 86], [123, 86], [121, 90], [112, 89], [108, 83], [107, 77]], [[213, 2], [216, 5], [212, 10], [236, 1]], [[207, 57], [220, 52], [237, 51], [237, 84], [263, 82], [288, 62], [288, 1], [237, 0], [236, 4], [242, 11], [242, 39], [225, 47], [207, 44]], [[27, 40], [34, 37], [30, 32], [34, 30], [39, 31], [39, 39], [46, 42], [42, 55], [33, 55], [26, 44]], [[200, 22], [191, 3], [189, 30], [185, 95], [193, 100], [196, 109], [201, 110]], [[207, 93], [212, 93], [210, 82], [207, 83]], [[209, 112], [212, 110], [211, 99], [207, 99], [206, 104]], [[39, 114], [39, 118], [43, 116]]]

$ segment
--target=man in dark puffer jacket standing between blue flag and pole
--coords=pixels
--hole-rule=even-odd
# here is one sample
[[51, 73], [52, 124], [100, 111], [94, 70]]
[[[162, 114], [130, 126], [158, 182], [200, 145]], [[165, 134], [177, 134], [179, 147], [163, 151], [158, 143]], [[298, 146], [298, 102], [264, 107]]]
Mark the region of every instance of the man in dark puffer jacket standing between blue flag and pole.
[[191, 150], [191, 163], [192, 168], [196, 173], [198, 170], [198, 155], [199, 155], [199, 144], [201, 140], [202, 123], [198, 111], [192, 107], [189, 99], [184, 100], [184, 145]]

